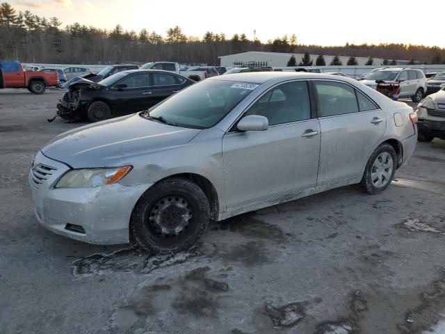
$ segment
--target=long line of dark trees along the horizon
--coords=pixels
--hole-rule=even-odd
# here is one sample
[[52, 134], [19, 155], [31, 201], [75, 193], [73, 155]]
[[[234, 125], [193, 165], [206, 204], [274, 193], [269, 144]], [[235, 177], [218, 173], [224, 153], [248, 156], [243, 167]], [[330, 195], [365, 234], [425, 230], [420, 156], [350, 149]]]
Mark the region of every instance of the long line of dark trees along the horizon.
[[[339, 56], [350, 56], [347, 65], [355, 65], [355, 57], [394, 59], [411, 63], [445, 63], [445, 48], [423, 45], [380, 44], [323, 47], [302, 45], [295, 34], [261, 42], [250, 40], [245, 33], [227, 37], [225, 33], [207, 31], [202, 37], [187, 36], [179, 26], [165, 35], [142, 29], [126, 31], [118, 24], [114, 29], [99, 29], [79, 23], [62, 27], [57, 17], [39, 17], [31, 11], [15, 10], [8, 3], [0, 5], [0, 59], [17, 59], [24, 63], [146, 63], [148, 61], [177, 61], [187, 64], [218, 65], [218, 56], [245, 51], [274, 51], [305, 54], [300, 63], [313, 62], [309, 54], [318, 54], [315, 65], [323, 65], [323, 55], [337, 55], [332, 63], [342, 65]], [[307, 54], [307, 56], [306, 56]], [[295, 57], [293, 57], [295, 58]], [[389, 61], [391, 60], [391, 61]], [[293, 64], [292, 58], [289, 62]], [[295, 59], [297, 64], [297, 60]]]

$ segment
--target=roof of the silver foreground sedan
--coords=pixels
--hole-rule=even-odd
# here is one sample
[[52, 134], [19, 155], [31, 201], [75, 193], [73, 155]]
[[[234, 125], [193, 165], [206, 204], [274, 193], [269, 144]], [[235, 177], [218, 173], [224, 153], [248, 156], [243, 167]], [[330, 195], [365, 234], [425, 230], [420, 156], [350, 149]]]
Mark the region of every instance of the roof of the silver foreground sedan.
[[[251, 82], [254, 84], [264, 84], [264, 82], [277, 79], [277, 81], [282, 80], [292, 80], [292, 79], [331, 79], [332, 74], [323, 73], [311, 73], [311, 72], [241, 72], [234, 74], [224, 74], [218, 77], [211, 77], [206, 80], [228, 80], [228, 81], [242, 81]], [[348, 77], [336, 76], [336, 80], [352, 82]], [[358, 82], [358, 81], [357, 81]]]

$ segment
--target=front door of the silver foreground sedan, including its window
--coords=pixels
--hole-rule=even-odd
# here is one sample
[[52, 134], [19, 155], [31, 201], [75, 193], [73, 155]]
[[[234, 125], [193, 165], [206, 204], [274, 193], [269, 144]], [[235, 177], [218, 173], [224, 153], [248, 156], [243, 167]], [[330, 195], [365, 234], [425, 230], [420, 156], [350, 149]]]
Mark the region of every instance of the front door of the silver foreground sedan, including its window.
[[268, 118], [266, 131], [223, 136], [227, 209], [299, 193], [316, 186], [320, 125], [311, 118], [306, 81], [268, 90], [243, 116]]

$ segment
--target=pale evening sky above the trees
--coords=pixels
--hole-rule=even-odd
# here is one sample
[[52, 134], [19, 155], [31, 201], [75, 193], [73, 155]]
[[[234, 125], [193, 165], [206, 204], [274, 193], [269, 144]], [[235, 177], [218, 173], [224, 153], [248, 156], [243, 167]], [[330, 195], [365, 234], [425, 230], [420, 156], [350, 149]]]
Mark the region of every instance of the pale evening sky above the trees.
[[[296, 34], [298, 43], [316, 45], [396, 42], [445, 47], [439, 16], [443, 0], [6, 0], [16, 10], [58, 17], [63, 26], [79, 22], [101, 29], [147, 29], [165, 35], [172, 26], [186, 35], [206, 31], [245, 33], [261, 42]], [[392, 4], [392, 6], [391, 6]], [[437, 20], [434, 22], [434, 20]], [[432, 26], [429, 29], [428, 26]]]

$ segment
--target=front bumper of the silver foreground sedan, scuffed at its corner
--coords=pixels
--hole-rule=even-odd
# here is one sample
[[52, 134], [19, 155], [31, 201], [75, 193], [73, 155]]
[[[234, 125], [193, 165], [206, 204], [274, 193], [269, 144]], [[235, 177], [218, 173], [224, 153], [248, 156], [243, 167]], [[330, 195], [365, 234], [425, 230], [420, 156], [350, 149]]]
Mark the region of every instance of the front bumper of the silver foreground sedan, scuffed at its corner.
[[[123, 186], [117, 183], [54, 189], [54, 184], [70, 168], [45, 157], [42, 152], [35, 157], [33, 166], [29, 182], [34, 212], [44, 228], [90, 244], [129, 242], [131, 212], [151, 184]], [[35, 182], [35, 171], [33, 172], [33, 169], [39, 166], [53, 168], [49, 170], [51, 174], [47, 175], [45, 180], [39, 180], [41, 184]], [[84, 232], [72, 230], [72, 225], [80, 226]]]

